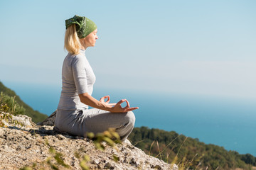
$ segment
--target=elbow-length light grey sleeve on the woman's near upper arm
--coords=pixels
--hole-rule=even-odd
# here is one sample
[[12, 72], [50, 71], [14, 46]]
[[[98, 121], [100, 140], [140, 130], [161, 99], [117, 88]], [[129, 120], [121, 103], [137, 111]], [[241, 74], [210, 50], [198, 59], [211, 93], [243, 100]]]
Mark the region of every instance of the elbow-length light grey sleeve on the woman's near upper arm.
[[88, 93], [87, 77], [85, 71], [85, 59], [83, 57], [75, 57], [72, 64], [73, 77], [75, 87], [78, 94]]

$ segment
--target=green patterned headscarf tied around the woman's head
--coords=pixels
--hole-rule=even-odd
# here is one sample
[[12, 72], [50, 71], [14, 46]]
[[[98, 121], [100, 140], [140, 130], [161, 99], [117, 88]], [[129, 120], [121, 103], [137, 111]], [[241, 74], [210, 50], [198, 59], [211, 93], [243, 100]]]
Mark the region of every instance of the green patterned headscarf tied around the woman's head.
[[96, 24], [85, 16], [75, 15], [73, 18], [65, 20], [66, 29], [74, 23], [78, 38], [85, 38], [97, 28]]

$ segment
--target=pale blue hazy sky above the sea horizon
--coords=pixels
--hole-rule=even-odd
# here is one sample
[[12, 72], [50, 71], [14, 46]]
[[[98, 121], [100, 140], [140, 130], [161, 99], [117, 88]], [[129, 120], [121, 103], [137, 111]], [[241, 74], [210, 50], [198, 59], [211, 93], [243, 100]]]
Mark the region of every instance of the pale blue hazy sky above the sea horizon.
[[0, 1], [0, 81], [61, 84], [65, 19], [95, 21], [97, 88], [256, 98], [256, 1]]

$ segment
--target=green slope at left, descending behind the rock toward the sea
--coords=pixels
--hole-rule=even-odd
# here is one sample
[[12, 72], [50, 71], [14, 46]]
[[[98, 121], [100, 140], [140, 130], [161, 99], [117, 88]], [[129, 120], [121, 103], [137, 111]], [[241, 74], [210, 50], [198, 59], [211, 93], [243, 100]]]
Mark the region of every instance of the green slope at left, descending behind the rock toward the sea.
[[28, 115], [29, 117], [32, 118], [33, 122], [38, 123], [42, 120], [45, 120], [46, 118], [48, 118], [48, 115], [45, 115], [43, 113], [40, 113], [38, 111], [34, 111], [33, 108], [31, 108], [30, 106], [28, 106], [26, 103], [24, 103], [21, 98], [19, 96], [16, 95], [16, 93], [14, 91], [12, 91], [11, 89], [7, 88], [6, 86], [4, 86], [4, 84], [1, 83], [0, 81], [0, 93], [3, 92], [3, 94], [6, 94], [8, 96], [16, 96], [15, 100], [16, 102], [20, 105], [23, 106], [23, 108], [25, 108], [25, 115]]

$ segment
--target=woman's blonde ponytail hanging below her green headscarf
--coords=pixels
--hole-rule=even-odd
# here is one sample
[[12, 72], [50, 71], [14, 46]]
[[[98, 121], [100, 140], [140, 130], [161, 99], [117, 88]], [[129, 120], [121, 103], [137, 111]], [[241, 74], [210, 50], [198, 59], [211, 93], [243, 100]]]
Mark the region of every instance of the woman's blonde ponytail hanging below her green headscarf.
[[73, 55], [78, 55], [80, 52], [81, 43], [78, 38], [78, 33], [75, 29], [75, 24], [69, 26], [65, 31], [64, 48]]

